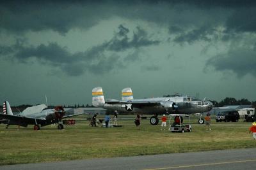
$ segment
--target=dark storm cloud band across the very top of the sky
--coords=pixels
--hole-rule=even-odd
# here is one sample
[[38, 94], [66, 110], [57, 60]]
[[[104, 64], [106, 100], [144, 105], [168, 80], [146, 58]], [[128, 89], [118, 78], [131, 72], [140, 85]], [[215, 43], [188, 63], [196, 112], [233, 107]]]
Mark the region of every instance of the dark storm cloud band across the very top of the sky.
[[1, 1], [0, 29], [65, 34], [118, 16], [167, 25], [171, 34], [183, 32], [176, 42], [191, 42], [207, 39], [205, 35], [212, 36], [212, 29], [220, 26], [228, 32], [254, 32], [255, 6], [256, 1]]

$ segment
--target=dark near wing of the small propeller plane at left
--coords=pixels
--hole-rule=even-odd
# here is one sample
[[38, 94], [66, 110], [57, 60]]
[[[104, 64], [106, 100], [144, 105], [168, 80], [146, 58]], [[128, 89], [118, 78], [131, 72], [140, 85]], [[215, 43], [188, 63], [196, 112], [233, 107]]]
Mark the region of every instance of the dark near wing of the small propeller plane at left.
[[45, 118], [20, 117], [20, 116], [4, 115], [4, 114], [0, 114], [0, 118], [4, 118], [6, 120], [11, 120], [15, 122], [23, 122], [25, 124], [35, 124], [35, 121], [37, 124], [42, 124], [42, 122], [45, 122]]

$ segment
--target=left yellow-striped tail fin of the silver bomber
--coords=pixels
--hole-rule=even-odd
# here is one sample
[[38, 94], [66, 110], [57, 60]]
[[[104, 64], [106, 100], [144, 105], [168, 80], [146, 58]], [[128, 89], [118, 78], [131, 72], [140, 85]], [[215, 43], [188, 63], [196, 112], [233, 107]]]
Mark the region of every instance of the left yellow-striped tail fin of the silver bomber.
[[95, 107], [103, 107], [105, 99], [102, 87], [95, 87], [92, 89], [92, 105]]

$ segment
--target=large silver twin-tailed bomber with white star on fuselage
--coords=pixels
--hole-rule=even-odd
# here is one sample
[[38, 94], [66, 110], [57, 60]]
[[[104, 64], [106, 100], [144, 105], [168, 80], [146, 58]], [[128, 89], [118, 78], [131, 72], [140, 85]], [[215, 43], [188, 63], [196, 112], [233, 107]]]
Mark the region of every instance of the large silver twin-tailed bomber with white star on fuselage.
[[212, 109], [210, 101], [199, 100], [196, 97], [170, 96], [147, 99], [133, 99], [131, 88], [122, 90], [122, 100], [108, 99], [105, 101], [102, 87], [92, 90], [92, 104], [95, 107], [117, 110], [119, 113], [152, 114], [150, 124], [157, 125], [160, 114], [193, 114], [203, 113]]

